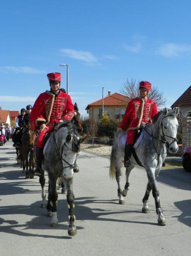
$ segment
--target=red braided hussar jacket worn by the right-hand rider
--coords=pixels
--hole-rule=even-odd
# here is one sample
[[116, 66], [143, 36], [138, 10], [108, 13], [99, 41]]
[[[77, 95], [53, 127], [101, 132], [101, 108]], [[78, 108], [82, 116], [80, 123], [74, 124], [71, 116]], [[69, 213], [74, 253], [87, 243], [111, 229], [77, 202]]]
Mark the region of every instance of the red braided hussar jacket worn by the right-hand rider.
[[[120, 128], [127, 130], [130, 127], [136, 127], [139, 123], [140, 110], [141, 110], [141, 98], [132, 99], [125, 111], [124, 118], [120, 124]], [[146, 99], [144, 101], [143, 118], [141, 122], [148, 124], [151, 119], [158, 113], [156, 103], [152, 99]]]

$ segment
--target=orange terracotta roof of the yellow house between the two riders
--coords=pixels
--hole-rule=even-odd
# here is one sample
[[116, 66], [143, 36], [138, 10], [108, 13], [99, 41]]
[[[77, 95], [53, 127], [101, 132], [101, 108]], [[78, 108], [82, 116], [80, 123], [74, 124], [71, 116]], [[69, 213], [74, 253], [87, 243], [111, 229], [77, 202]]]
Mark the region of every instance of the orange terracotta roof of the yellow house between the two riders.
[[[123, 96], [117, 92], [104, 97], [104, 106], [127, 106], [130, 98]], [[102, 106], [102, 99], [92, 102], [87, 105], [86, 110], [89, 110], [90, 106]]]

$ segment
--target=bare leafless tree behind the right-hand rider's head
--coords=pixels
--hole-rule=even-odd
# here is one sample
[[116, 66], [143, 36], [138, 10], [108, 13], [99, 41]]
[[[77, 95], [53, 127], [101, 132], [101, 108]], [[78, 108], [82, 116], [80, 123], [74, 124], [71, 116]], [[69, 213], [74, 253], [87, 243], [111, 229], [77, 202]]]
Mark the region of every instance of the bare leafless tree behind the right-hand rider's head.
[[[134, 99], [136, 97], [139, 97], [139, 83], [136, 82], [136, 79], [131, 78], [131, 81], [127, 78], [126, 83], [122, 84], [120, 88], [120, 93], [123, 94], [124, 96], [129, 97], [130, 99]], [[163, 96], [164, 92], [159, 91], [156, 86], [152, 86], [150, 94], [149, 94], [149, 99], [153, 99], [158, 108], [164, 107], [166, 103], [166, 97]]]

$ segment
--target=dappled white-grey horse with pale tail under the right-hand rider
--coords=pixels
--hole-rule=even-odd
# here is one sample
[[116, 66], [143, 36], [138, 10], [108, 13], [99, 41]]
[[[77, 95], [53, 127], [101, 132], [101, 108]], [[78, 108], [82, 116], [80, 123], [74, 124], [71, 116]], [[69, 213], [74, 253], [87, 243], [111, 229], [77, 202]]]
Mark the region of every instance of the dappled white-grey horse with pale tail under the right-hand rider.
[[[143, 197], [143, 213], [149, 213], [148, 198], [152, 190], [155, 199], [156, 213], [158, 215], [158, 225], [166, 225], [166, 220], [163, 216], [163, 211], [160, 207], [159, 191], [156, 185], [155, 177], [160, 172], [162, 164], [166, 158], [167, 150], [171, 153], [178, 151], [177, 145], [177, 128], [179, 108], [176, 110], [163, 110], [154, 118], [153, 122], [146, 125], [143, 129], [143, 137], [140, 144], [134, 150], [134, 154], [130, 159], [131, 165], [126, 168], [126, 184], [122, 191], [120, 186], [122, 158], [124, 157], [125, 145], [121, 143], [125, 133], [117, 131], [114, 136], [113, 148], [110, 155], [110, 177], [116, 178], [119, 197], [119, 203], [125, 204], [123, 196], [127, 196], [130, 188], [129, 175], [135, 165], [145, 167], [148, 176], [148, 184]], [[136, 157], [137, 156], [137, 157]], [[137, 161], [136, 161], [136, 160]]]

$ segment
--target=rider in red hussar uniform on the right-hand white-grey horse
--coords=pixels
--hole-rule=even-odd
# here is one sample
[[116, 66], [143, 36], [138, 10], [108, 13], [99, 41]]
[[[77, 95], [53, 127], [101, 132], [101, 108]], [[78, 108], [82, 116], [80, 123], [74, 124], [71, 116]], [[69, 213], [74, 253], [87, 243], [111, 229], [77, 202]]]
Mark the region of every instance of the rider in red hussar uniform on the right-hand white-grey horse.
[[148, 99], [151, 84], [147, 81], [141, 81], [139, 84], [140, 97], [132, 99], [125, 111], [124, 118], [120, 124], [118, 131], [127, 131], [127, 139], [125, 143], [124, 166], [130, 166], [130, 157], [135, 136], [141, 126], [151, 123], [151, 119], [158, 113], [156, 103], [152, 99]]

